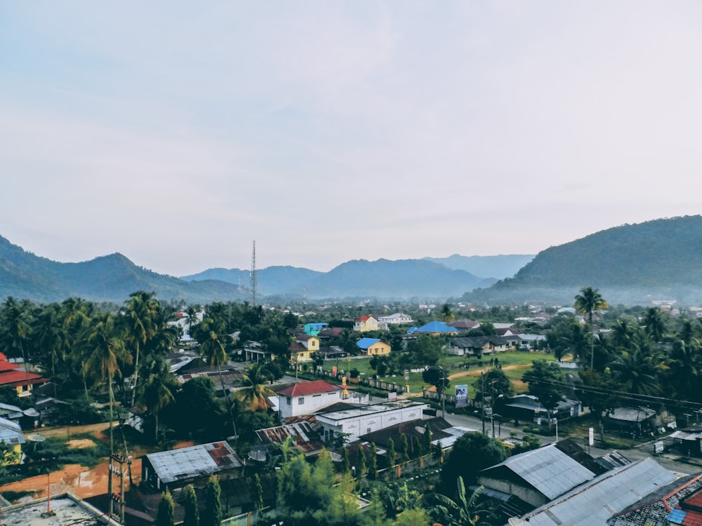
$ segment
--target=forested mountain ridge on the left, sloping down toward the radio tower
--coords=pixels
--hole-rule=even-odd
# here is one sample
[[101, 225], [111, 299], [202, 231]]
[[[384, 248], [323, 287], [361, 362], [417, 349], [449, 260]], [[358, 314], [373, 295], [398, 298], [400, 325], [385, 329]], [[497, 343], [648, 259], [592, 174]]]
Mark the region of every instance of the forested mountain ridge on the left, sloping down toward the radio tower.
[[121, 254], [59, 263], [27, 252], [0, 236], [0, 298], [60, 302], [81, 297], [121, 304], [135, 290], [153, 290], [161, 299], [187, 302], [241, 299], [236, 285], [223, 281], [187, 283], [137, 267]]

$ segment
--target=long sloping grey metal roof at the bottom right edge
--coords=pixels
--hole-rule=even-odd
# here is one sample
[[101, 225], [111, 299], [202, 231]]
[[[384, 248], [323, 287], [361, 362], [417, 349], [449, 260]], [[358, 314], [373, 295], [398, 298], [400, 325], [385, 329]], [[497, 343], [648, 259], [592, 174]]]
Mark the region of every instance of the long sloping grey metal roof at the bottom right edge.
[[607, 520], [676, 479], [652, 459], [604, 473], [525, 515], [530, 526], [606, 526]]

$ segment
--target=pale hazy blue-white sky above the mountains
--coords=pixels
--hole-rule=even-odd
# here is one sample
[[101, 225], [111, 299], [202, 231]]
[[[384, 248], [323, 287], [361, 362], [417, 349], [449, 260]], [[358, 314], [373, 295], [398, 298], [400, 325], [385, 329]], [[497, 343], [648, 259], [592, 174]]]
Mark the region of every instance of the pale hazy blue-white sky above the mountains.
[[0, 235], [61, 262], [535, 254], [701, 213], [701, 128], [698, 1], [0, 2]]

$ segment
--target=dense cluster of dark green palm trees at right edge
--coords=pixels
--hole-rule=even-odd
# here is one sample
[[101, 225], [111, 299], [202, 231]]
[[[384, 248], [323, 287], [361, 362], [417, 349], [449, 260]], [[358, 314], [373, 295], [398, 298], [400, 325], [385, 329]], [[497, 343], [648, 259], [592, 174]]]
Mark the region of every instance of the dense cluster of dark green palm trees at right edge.
[[[609, 308], [607, 301], [589, 287], [575, 297], [575, 307], [585, 315], [587, 330], [574, 318], [564, 318], [554, 323], [547, 337], [557, 356], [571, 353], [585, 366], [584, 398], [589, 394], [604, 405], [626, 403], [626, 398], [640, 403], [644, 397], [668, 400], [669, 406], [702, 403], [698, 318], [684, 313], [673, 317], [658, 306], [610, 314], [603, 312]], [[593, 330], [597, 313], [599, 326]]]

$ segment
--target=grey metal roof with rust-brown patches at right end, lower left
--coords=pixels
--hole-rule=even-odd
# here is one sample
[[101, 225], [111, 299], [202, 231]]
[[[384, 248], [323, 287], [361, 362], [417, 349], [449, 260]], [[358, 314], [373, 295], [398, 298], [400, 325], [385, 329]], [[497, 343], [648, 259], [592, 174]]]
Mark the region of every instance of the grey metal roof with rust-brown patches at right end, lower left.
[[150, 453], [146, 457], [166, 484], [241, 467], [239, 457], [226, 442]]

